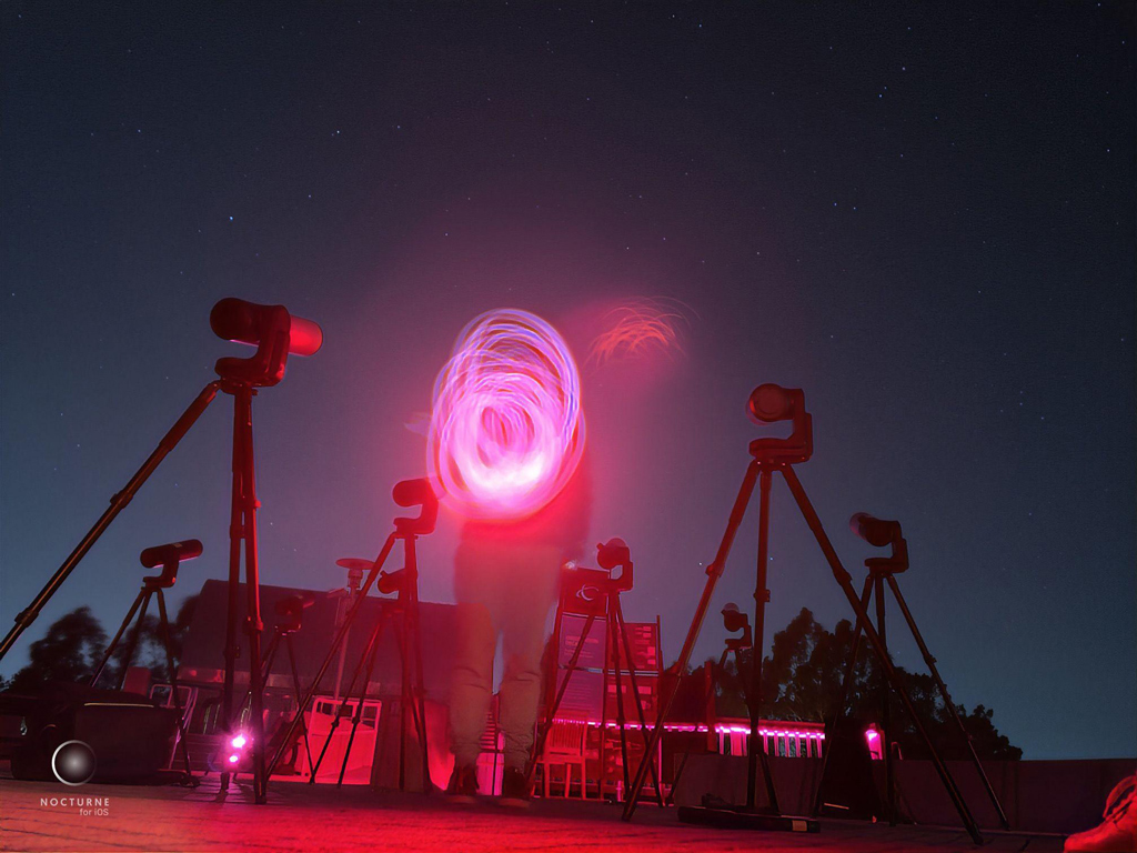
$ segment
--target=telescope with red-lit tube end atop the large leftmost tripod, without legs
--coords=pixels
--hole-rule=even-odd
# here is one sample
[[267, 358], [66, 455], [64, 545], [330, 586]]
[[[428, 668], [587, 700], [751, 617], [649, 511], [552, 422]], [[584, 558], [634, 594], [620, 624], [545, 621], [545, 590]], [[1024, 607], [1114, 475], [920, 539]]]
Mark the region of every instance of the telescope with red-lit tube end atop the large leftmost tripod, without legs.
[[289, 355], [308, 356], [324, 342], [324, 332], [310, 320], [289, 314], [283, 305], [258, 305], [232, 297], [209, 312], [214, 334], [257, 351], [248, 358], [218, 358], [214, 370], [222, 379], [242, 386], [271, 387], [284, 379]]

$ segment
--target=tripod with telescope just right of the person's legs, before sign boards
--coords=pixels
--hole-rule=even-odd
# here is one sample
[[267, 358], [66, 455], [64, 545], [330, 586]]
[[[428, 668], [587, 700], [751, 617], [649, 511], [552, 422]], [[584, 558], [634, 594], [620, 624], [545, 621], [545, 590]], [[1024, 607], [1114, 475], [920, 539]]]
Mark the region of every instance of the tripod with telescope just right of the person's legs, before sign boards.
[[[640, 724], [640, 736], [644, 738], [644, 745], [648, 745], [647, 735], [647, 718], [644, 714], [644, 701], [640, 697], [639, 685], [636, 681], [636, 662], [632, 659], [631, 644], [628, 640], [628, 628], [624, 622], [624, 612], [620, 606], [620, 593], [628, 591], [632, 588], [632, 561], [631, 554], [628, 550], [628, 546], [624, 544], [623, 539], [609, 539], [604, 545], [597, 545], [597, 564], [605, 570], [604, 572], [592, 572], [588, 569], [576, 569], [571, 572], [565, 572], [565, 577], [562, 579], [561, 587], [561, 601], [557, 605], [556, 621], [553, 628], [553, 636], [561, 637], [562, 626], [564, 623], [565, 612], [570, 613], [573, 611], [573, 603], [570, 603], [567, 595], [568, 586], [564, 581], [568, 579], [570, 575], [580, 575], [583, 578], [584, 572], [589, 572], [588, 580], [581, 583], [572, 585], [572, 588], [578, 590], [575, 598], [580, 602], [575, 602], [578, 613], [576, 615], [586, 615], [584, 627], [581, 629], [580, 638], [576, 640], [576, 648], [573, 651], [572, 659], [568, 661], [568, 666], [565, 671], [564, 681], [561, 682], [559, 689], [556, 687], [557, 682], [557, 668], [556, 659], [554, 659], [554, 669], [550, 672], [550, 678], [548, 681], [548, 695], [546, 696], [546, 713], [545, 721], [541, 723], [540, 730], [538, 731], [537, 742], [533, 750], [533, 760], [529, 762], [529, 787], [532, 787], [533, 776], [537, 772], [537, 762], [545, 752], [545, 742], [549, 736], [549, 731], [556, 721], [557, 710], [561, 707], [561, 702], [564, 698], [565, 691], [568, 689], [568, 681], [572, 674], [576, 671], [576, 666], [580, 663], [581, 652], [584, 649], [584, 643], [588, 640], [588, 635], [596, 623], [598, 615], [603, 615], [607, 623], [607, 630], [605, 631], [605, 649], [604, 649], [604, 677], [605, 677], [605, 689], [601, 694], [601, 706], [607, 702], [607, 674], [608, 668], [612, 666], [615, 678], [616, 687], [616, 726], [620, 729], [620, 754], [623, 762], [623, 773], [624, 773], [624, 797], [636, 798], [639, 796], [639, 788], [629, 787], [629, 767], [628, 767], [628, 723], [624, 714], [624, 688], [623, 680], [621, 678], [621, 670], [623, 668], [623, 662], [628, 664], [628, 681], [631, 688], [631, 694], [636, 698], [636, 712], [639, 717]], [[613, 569], [620, 568], [620, 577], [611, 577], [611, 571]], [[595, 577], [594, 577], [595, 575]], [[591, 591], [591, 594], [588, 594]], [[581, 606], [583, 605], [583, 606]], [[584, 612], [580, 612], [580, 611]], [[616, 638], [620, 638], [617, 641]], [[621, 645], [623, 646], [623, 661], [621, 661]], [[553, 691], [556, 690], [554, 695]], [[604, 717], [603, 707], [601, 714]], [[600, 728], [600, 795], [604, 795], [604, 740], [606, 732], [601, 724]], [[645, 760], [648, 760], [650, 755], [646, 755]], [[663, 787], [659, 784], [659, 775], [656, 769], [655, 762], [649, 761], [649, 767], [652, 770], [652, 780], [655, 785], [656, 797], [659, 801], [659, 805], [663, 805]], [[546, 770], [548, 772], [548, 770]], [[581, 779], [581, 786], [587, 784], [587, 779]]]

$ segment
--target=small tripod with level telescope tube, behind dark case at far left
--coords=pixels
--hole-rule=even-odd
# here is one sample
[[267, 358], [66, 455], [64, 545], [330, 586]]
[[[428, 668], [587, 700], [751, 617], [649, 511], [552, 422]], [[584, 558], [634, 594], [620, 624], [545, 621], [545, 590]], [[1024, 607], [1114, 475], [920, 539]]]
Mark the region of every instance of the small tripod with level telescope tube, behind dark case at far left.
[[139, 556], [142, 568], [157, 569], [160, 565], [161, 574], [142, 578], [142, 588], [134, 598], [134, 604], [126, 612], [126, 618], [118, 626], [118, 631], [115, 633], [115, 638], [110, 640], [110, 645], [107, 646], [107, 651], [102, 655], [102, 661], [99, 662], [94, 674], [91, 676], [91, 687], [96, 687], [99, 678], [102, 676], [102, 671], [107, 668], [107, 663], [118, 647], [118, 640], [122, 639], [126, 627], [134, 619], [134, 614], [138, 613], [138, 621], [134, 623], [134, 629], [131, 631], [131, 637], [126, 643], [126, 654], [123, 656], [122, 670], [118, 673], [118, 689], [123, 689], [123, 684], [126, 681], [126, 670], [130, 669], [131, 661], [134, 660], [134, 652], [138, 649], [142, 624], [146, 622], [147, 608], [150, 606], [150, 599], [157, 598], [158, 637], [166, 649], [166, 674], [169, 677], [169, 696], [166, 698], [166, 706], [169, 707], [169, 703], [173, 702], [174, 709], [177, 712], [177, 743], [182, 747], [181, 752], [182, 761], [185, 764], [185, 775], [191, 778], [193, 771], [190, 769], [190, 753], [185, 746], [185, 721], [182, 719], [182, 697], [177, 693], [177, 669], [174, 666], [174, 652], [169, 645], [169, 618], [166, 614], [166, 595], [163, 590], [169, 589], [177, 581], [177, 566], [183, 560], [193, 560], [200, 555], [201, 543], [197, 539], [188, 539], [184, 543], [171, 543], [169, 545], [157, 545], [142, 552]]

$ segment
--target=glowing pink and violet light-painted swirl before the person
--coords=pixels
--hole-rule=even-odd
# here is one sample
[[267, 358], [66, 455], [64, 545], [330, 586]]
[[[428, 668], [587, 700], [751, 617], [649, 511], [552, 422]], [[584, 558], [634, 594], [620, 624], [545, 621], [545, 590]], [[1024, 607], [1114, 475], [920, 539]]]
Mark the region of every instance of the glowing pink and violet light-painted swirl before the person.
[[426, 464], [443, 503], [473, 519], [531, 515], [583, 449], [580, 375], [557, 331], [509, 308], [471, 321], [434, 381]]

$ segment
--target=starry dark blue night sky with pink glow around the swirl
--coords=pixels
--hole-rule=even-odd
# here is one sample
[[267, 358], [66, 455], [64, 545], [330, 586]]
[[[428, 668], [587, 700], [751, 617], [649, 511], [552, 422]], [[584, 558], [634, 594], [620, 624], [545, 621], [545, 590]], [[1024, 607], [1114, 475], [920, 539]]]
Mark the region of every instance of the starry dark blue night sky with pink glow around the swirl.
[[[592, 540], [679, 651], [757, 428], [802, 387], [799, 475], [847, 568], [897, 517], [954, 697], [1026, 757], [1137, 754], [1135, 7], [9, 2], [2, 26], [0, 621], [241, 355], [210, 306], [323, 325], [255, 401], [263, 581], [373, 556], [462, 326], [689, 308], [682, 350], [590, 364]], [[113, 630], [146, 546], [227, 560], [221, 397], [20, 644]], [[756, 503], [756, 502], [755, 502]], [[756, 508], [713, 602], [753, 604]], [[458, 524], [421, 545], [450, 601]], [[775, 480], [772, 602], [847, 603]], [[891, 611], [899, 663], [921, 668]], [[696, 660], [717, 655], [717, 616]], [[767, 635], [769, 643], [769, 635]]]

